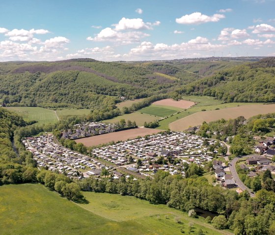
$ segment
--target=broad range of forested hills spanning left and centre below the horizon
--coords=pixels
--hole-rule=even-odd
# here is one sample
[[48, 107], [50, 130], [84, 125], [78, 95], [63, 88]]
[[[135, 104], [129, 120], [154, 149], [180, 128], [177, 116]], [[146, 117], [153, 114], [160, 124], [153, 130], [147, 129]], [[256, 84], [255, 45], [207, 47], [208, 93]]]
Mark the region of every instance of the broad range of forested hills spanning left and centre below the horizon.
[[128, 99], [168, 94], [204, 76], [243, 61], [0, 63], [0, 102], [8, 106], [115, 108]]

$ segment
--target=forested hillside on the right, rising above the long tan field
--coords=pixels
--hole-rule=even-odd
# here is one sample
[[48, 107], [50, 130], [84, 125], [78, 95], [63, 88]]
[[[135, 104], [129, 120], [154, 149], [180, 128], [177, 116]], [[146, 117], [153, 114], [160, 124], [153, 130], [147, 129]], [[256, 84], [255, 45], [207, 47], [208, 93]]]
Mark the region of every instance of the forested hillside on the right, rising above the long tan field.
[[224, 102], [275, 102], [275, 58], [220, 71], [185, 85], [177, 92], [213, 96]]

